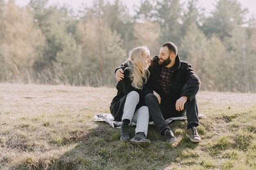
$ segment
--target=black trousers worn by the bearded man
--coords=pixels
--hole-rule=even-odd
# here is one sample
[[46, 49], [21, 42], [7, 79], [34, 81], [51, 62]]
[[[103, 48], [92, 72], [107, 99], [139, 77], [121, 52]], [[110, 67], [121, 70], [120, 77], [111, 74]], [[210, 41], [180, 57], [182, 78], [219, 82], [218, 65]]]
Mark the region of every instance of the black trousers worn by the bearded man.
[[[180, 96], [181, 97], [181, 96]], [[179, 99], [179, 98], [177, 98]], [[163, 135], [163, 130], [169, 128], [166, 124], [165, 119], [170, 117], [180, 117], [186, 115], [188, 125], [196, 124], [199, 125], [198, 120], [198, 105], [196, 97], [191, 102], [187, 101], [184, 106], [184, 110], [176, 110], [175, 104], [177, 99], [171, 99], [170, 101], [161, 101], [158, 103], [157, 97], [150, 93], [145, 97], [146, 106], [148, 106], [150, 118], [153, 120], [158, 132]], [[170, 128], [169, 128], [170, 129]]]

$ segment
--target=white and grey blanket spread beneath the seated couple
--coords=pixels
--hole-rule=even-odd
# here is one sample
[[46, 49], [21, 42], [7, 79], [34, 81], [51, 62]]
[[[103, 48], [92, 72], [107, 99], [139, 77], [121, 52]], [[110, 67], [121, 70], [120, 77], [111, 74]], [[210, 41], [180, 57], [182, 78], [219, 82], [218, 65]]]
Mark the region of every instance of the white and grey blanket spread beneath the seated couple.
[[[206, 116], [203, 114], [198, 114], [198, 118], [205, 119]], [[110, 113], [98, 113], [92, 119], [93, 121], [105, 121], [106, 123], [110, 124], [113, 128], [121, 128], [121, 121], [114, 121], [114, 117]], [[186, 116], [182, 117], [171, 117], [166, 119], [166, 123], [170, 123], [173, 120], [186, 120]], [[150, 121], [148, 124], [153, 125], [154, 122]], [[136, 123], [131, 122], [130, 126], [136, 125]]]

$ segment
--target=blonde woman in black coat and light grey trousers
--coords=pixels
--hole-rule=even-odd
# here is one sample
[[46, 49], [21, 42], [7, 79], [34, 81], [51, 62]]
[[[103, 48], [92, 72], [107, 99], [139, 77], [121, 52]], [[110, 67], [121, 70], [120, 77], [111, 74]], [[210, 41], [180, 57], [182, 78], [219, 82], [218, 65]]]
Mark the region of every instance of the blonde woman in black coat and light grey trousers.
[[[122, 121], [120, 140], [130, 140], [141, 147], [150, 145], [150, 140], [146, 139], [149, 112], [144, 102], [145, 96], [153, 93], [148, 81], [150, 60], [150, 51], [146, 46], [139, 46], [130, 52], [124, 69], [124, 79], [117, 83], [117, 95], [110, 105], [110, 113], [115, 121]], [[137, 123], [136, 135], [132, 139], [128, 133], [131, 121]]]

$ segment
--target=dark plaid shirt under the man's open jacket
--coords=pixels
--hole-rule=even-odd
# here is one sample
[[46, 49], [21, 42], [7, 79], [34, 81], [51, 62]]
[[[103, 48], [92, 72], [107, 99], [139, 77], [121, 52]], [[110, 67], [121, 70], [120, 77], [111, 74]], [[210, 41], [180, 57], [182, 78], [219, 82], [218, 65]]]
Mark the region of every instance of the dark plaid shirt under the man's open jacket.
[[157, 82], [162, 87], [162, 90], [164, 93], [170, 93], [172, 91], [172, 84], [171, 84], [171, 76], [173, 74], [173, 71], [175, 70], [175, 66], [172, 66], [170, 68], [162, 67], [161, 74], [157, 77]]

